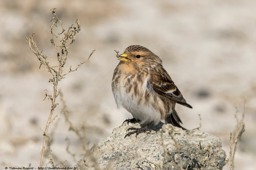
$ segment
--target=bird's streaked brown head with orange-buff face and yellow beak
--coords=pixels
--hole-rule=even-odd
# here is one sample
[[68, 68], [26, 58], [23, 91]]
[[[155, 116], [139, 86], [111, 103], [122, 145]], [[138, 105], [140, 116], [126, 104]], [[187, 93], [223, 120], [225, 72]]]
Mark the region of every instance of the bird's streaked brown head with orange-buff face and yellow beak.
[[146, 47], [140, 45], [131, 45], [119, 55], [118, 60], [123, 63], [141, 68], [155, 68], [162, 64], [162, 60]]

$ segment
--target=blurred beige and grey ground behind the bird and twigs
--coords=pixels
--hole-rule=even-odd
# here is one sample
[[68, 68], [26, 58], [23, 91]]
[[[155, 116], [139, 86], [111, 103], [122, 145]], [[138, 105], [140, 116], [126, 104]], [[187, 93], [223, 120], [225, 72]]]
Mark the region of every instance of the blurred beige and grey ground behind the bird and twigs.
[[[59, 83], [69, 111], [69, 120], [84, 133], [89, 146], [111, 135], [131, 114], [118, 110], [111, 80], [119, 60], [114, 50], [142, 45], [163, 60], [184, 98], [193, 109], [176, 110], [183, 126], [219, 136], [229, 156], [230, 132], [236, 129], [234, 114], [243, 110], [247, 98], [245, 132], [235, 155], [235, 169], [256, 166], [256, 1], [0, 1], [0, 166], [38, 167], [43, 130], [51, 103], [43, 90], [51, 92], [50, 74], [26, 44], [34, 41], [50, 64], [56, 65], [51, 45], [50, 9], [68, 29], [80, 18], [81, 31], [69, 48], [64, 72], [87, 60]], [[59, 29], [54, 29], [59, 31]], [[61, 36], [59, 36], [61, 37]], [[56, 41], [57, 42], [57, 41]], [[67, 160], [73, 166], [82, 158], [81, 142], [69, 130], [60, 98], [58, 117], [50, 124], [55, 164]], [[75, 153], [75, 160], [67, 153]], [[47, 157], [44, 164], [50, 166]]]

